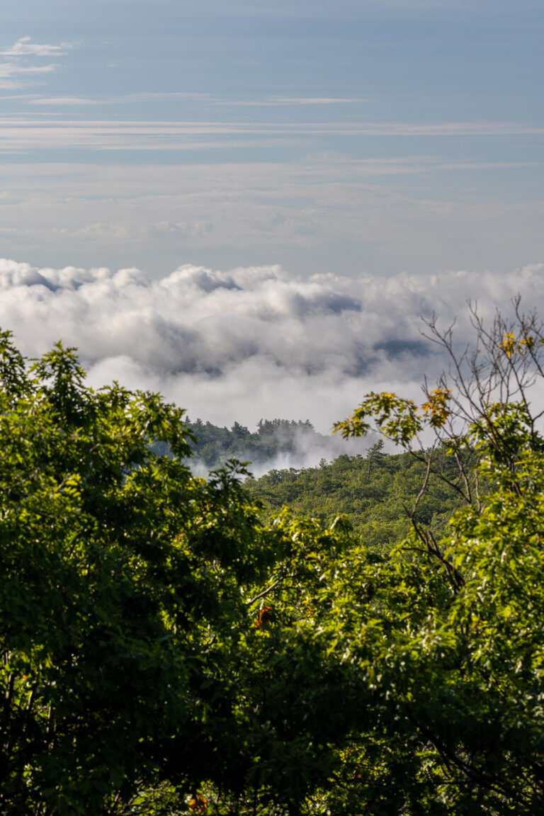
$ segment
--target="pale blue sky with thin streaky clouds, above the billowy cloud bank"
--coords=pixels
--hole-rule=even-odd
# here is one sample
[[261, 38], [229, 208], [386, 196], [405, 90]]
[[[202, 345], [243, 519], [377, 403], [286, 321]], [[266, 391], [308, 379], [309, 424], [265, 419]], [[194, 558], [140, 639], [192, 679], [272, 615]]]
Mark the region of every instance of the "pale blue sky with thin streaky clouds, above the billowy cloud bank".
[[152, 277], [536, 263], [543, 24], [540, 0], [9, 3], [0, 255]]

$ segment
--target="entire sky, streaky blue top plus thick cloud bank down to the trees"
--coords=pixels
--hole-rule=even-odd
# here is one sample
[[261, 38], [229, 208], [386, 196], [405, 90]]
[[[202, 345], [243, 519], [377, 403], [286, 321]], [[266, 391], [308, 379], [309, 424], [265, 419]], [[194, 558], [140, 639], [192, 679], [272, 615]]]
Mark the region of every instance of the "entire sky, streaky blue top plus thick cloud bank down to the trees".
[[413, 390], [420, 317], [542, 299], [543, 35], [542, 0], [7, 4], [2, 327], [222, 424]]

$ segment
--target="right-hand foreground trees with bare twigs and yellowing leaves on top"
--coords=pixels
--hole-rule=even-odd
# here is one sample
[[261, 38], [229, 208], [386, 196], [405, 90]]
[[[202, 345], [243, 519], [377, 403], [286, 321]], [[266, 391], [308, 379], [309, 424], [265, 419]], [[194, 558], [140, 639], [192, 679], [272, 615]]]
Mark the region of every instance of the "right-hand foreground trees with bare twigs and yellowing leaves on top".
[[[422, 406], [373, 393], [338, 424], [349, 435], [374, 421], [427, 477], [409, 538], [378, 565], [352, 553], [330, 597], [338, 659], [380, 712], [349, 754], [362, 798], [344, 776], [331, 812], [544, 813], [544, 336], [514, 305], [489, 330], [473, 312], [475, 347], [460, 355], [431, 324], [452, 366]], [[435, 449], [418, 442], [425, 428]], [[415, 511], [444, 446], [458, 477], [441, 475], [465, 508], [436, 540]]]

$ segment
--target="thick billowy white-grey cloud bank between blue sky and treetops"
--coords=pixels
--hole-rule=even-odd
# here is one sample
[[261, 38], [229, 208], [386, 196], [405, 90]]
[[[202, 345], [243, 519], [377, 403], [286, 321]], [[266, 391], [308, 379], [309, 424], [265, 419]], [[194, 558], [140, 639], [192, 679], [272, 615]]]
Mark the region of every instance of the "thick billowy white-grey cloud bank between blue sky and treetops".
[[138, 269], [36, 268], [0, 260], [0, 326], [35, 356], [58, 339], [77, 346], [91, 384], [153, 388], [192, 419], [250, 428], [261, 418], [310, 419], [328, 432], [365, 392], [418, 397], [444, 360], [420, 317], [507, 310], [520, 291], [544, 307], [544, 264], [512, 273], [309, 279], [281, 268], [218, 272], [190, 264], [160, 280]]

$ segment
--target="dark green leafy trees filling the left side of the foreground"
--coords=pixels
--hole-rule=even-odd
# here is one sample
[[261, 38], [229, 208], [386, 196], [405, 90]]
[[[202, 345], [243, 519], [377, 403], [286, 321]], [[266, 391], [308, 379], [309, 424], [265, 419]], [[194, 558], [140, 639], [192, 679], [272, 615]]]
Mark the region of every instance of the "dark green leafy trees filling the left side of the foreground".
[[235, 463], [192, 477], [183, 411], [61, 344], [29, 365], [3, 332], [0, 385], [2, 813], [298, 806], [342, 721], [296, 622], [345, 526], [263, 526]]

